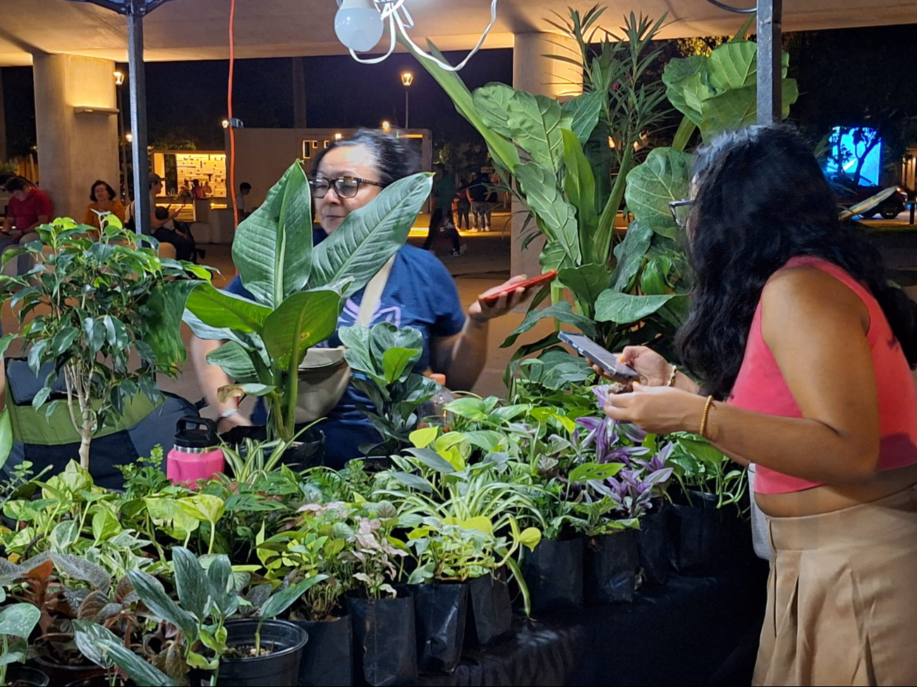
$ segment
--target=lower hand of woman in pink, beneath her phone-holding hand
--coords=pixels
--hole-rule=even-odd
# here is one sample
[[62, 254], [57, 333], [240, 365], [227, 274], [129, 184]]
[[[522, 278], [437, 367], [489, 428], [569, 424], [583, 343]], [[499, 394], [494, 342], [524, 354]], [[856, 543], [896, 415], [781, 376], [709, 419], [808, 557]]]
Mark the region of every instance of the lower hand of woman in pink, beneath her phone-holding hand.
[[610, 396], [603, 410], [612, 420], [631, 422], [652, 434], [669, 434], [698, 431], [704, 403], [705, 398], [681, 389], [635, 384], [630, 393]]

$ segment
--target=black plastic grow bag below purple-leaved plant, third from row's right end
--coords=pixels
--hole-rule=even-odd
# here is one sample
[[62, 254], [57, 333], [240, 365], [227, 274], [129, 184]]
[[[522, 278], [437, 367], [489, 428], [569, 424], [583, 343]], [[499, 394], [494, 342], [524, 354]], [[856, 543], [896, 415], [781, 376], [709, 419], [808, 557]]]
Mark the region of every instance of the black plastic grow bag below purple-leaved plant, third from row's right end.
[[592, 537], [586, 548], [586, 600], [598, 604], [631, 603], [637, 562], [633, 529]]

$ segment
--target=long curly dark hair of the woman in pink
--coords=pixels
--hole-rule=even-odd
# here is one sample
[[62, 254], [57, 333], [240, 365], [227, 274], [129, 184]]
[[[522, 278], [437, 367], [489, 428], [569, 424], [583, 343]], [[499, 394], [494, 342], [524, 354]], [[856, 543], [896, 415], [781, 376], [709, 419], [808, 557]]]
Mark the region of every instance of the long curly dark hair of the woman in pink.
[[677, 344], [704, 393], [732, 392], [765, 282], [794, 256], [821, 257], [865, 284], [917, 364], [917, 305], [889, 285], [863, 234], [838, 220], [834, 191], [795, 129], [721, 134], [698, 150], [693, 179], [687, 233], [695, 287]]

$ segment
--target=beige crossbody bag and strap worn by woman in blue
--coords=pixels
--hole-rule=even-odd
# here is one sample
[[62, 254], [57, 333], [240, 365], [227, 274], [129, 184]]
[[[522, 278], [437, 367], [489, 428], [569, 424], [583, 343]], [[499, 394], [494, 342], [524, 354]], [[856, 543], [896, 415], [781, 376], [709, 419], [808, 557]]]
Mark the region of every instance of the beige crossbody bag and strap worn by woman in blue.
[[[359, 314], [354, 325], [368, 327], [379, 306], [382, 290], [392, 274], [395, 256], [370, 279], [359, 303]], [[305, 353], [299, 365], [299, 394], [296, 398], [296, 424], [313, 422], [337, 406], [350, 383], [350, 366], [344, 357], [344, 346], [322, 348], [313, 346]]]

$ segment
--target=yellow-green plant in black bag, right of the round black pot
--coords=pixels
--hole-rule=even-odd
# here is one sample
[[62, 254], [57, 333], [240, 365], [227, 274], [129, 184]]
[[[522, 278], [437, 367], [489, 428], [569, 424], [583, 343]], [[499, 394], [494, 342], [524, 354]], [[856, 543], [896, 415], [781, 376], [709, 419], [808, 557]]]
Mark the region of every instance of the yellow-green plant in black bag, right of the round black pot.
[[354, 510], [342, 501], [307, 503], [294, 529], [258, 538], [258, 556], [268, 579], [297, 580], [320, 575], [293, 605], [290, 619], [309, 634], [300, 663], [299, 682], [308, 685], [353, 684], [353, 626], [343, 598], [354, 563], [342, 555], [356, 545], [346, 523]]

